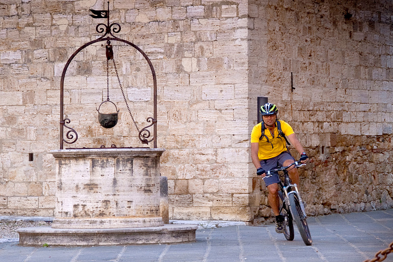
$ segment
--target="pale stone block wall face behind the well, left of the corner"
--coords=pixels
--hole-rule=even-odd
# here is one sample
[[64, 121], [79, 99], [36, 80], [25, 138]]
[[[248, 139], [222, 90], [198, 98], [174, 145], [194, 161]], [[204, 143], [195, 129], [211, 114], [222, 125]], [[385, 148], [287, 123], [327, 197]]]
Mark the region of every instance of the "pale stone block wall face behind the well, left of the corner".
[[[106, 9], [106, 2], [2, 4], [1, 212], [51, 215], [55, 172], [47, 152], [58, 148], [60, 76], [75, 50], [99, 36], [96, 25], [105, 21], [92, 19], [88, 9]], [[110, 10], [111, 23], [121, 26], [117, 36], [138, 45], [157, 74], [158, 146], [167, 149], [161, 173], [168, 177], [170, 218], [250, 220], [247, 4], [114, 0]], [[143, 127], [152, 115], [149, 68], [132, 48], [112, 44], [130, 111]], [[64, 113], [79, 139], [64, 147], [143, 146], [113, 67], [110, 98], [121, 110], [119, 122], [111, 130], [98, 125], [96, 108], [107, 97], [105, 61], [105, 48], [96, 43], [67, 70]], [[15, 195], [19, 204], [12, 204]], [[44, 197], [52, 200], [39, 208]]]

